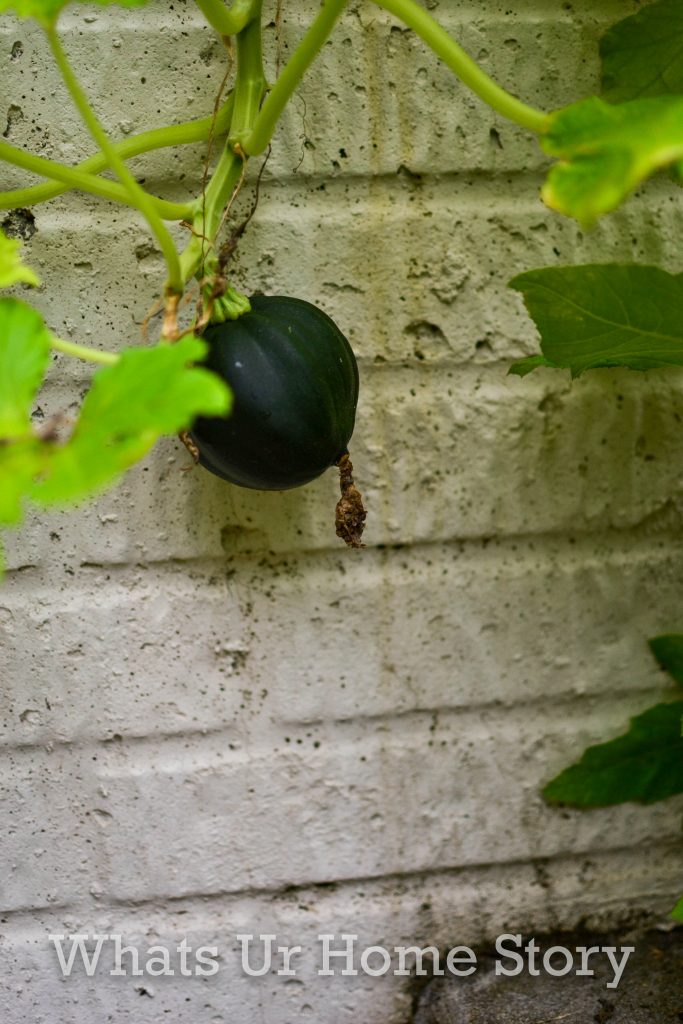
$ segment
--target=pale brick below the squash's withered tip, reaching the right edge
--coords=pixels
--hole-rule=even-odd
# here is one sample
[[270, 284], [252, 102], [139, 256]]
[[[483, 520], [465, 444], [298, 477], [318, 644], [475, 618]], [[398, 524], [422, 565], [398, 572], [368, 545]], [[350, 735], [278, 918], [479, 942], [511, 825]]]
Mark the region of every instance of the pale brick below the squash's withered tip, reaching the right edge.
[[645, 640], [678, 629], [661, 612], [680, 604], [678, 555], [650, 545], [236, 555], [231, 567], [246, 624], [269, 638], [250, 678], [299, 735], [330, 720], [672, 690]]

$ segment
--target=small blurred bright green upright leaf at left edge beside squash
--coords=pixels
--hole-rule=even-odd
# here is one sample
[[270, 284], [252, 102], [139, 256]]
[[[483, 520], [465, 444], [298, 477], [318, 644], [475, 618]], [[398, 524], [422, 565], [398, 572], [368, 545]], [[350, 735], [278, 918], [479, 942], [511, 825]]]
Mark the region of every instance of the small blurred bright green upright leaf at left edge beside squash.
[[50, 354], [40, 313], [18, 299], [0, 299], [0, 439], [31, 428], [31, 404]]

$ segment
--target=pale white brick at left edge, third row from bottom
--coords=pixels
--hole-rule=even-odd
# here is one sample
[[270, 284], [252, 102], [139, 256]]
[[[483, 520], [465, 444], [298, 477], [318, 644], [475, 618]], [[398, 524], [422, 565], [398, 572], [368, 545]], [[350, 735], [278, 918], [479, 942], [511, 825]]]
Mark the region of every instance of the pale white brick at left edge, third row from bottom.
[[4, 743], [229, 729], [251, 708], [249, 644], [220, 571], [24, 582], [0, 595]]

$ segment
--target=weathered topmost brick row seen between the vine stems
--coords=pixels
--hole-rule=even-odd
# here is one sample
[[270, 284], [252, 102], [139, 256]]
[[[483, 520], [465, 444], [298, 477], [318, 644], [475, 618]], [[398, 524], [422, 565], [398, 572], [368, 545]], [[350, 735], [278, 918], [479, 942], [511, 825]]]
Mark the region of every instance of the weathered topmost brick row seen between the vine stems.
[[[441, 4], [437, 19], [501, 84], [540, 109], [555, 110], [597, 91], [597, 40], [617, 16], [605, 9], [554, 12], [510, 10], [500, 5]], [[637, 9], [636, 5], [629, 6]], [[312, 11], [286, 10], [283, 61], [301, 38]], [[163, 31], [159, 24], [163, 20]], [[113, 135], [156, 127], [164, 112], [184, 120], [211, 112], [225, 67], [221, 47], [201, 16], [184, 4], [150, 4], [122, 24], [117, 12], [88, 11], [63, 20], [69, 53], [84, 69], [83, 81], [101, 106]], [[275, 77], [275, 40], [267, 36], [267, 66]], [[3, 91], [22, 111], [12, 141], [36, 140], [46, 153], [76, 161], [90, 152], [78, 116], [61, 86], [44, 74], [48, 50], [32, 26], [4, 27], [2, 50], [16, 38], [19, 59], [5, 61]], [[112, 90], [112, 83], [116, 90]], [[520, 85], [520, 82], [523, 85]], [[427, 112], [429, 116], [427, 116]], [[170, 160], [172, 175], [196, 185], [200, 161], [184, 150]], [[527, 169], [544, 159], [533, 136], [511, 126], [474, 97], [421, 40], [386, 12], [362, 3], [342, 18], [285, 112], [271, 173], [387, 174], [405, 166], [415, 173]], [[165, 185], [169, 158], [141, 163], [146, 184]]]

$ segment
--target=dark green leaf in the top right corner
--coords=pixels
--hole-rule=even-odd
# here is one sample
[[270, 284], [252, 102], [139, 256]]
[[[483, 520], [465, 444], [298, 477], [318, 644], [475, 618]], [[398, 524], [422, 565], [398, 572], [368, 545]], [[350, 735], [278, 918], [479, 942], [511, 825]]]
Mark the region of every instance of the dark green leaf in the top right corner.
[[683, 4], [657, 0], [600, 41], [602, 95], [611, 103], [683, 93]]

